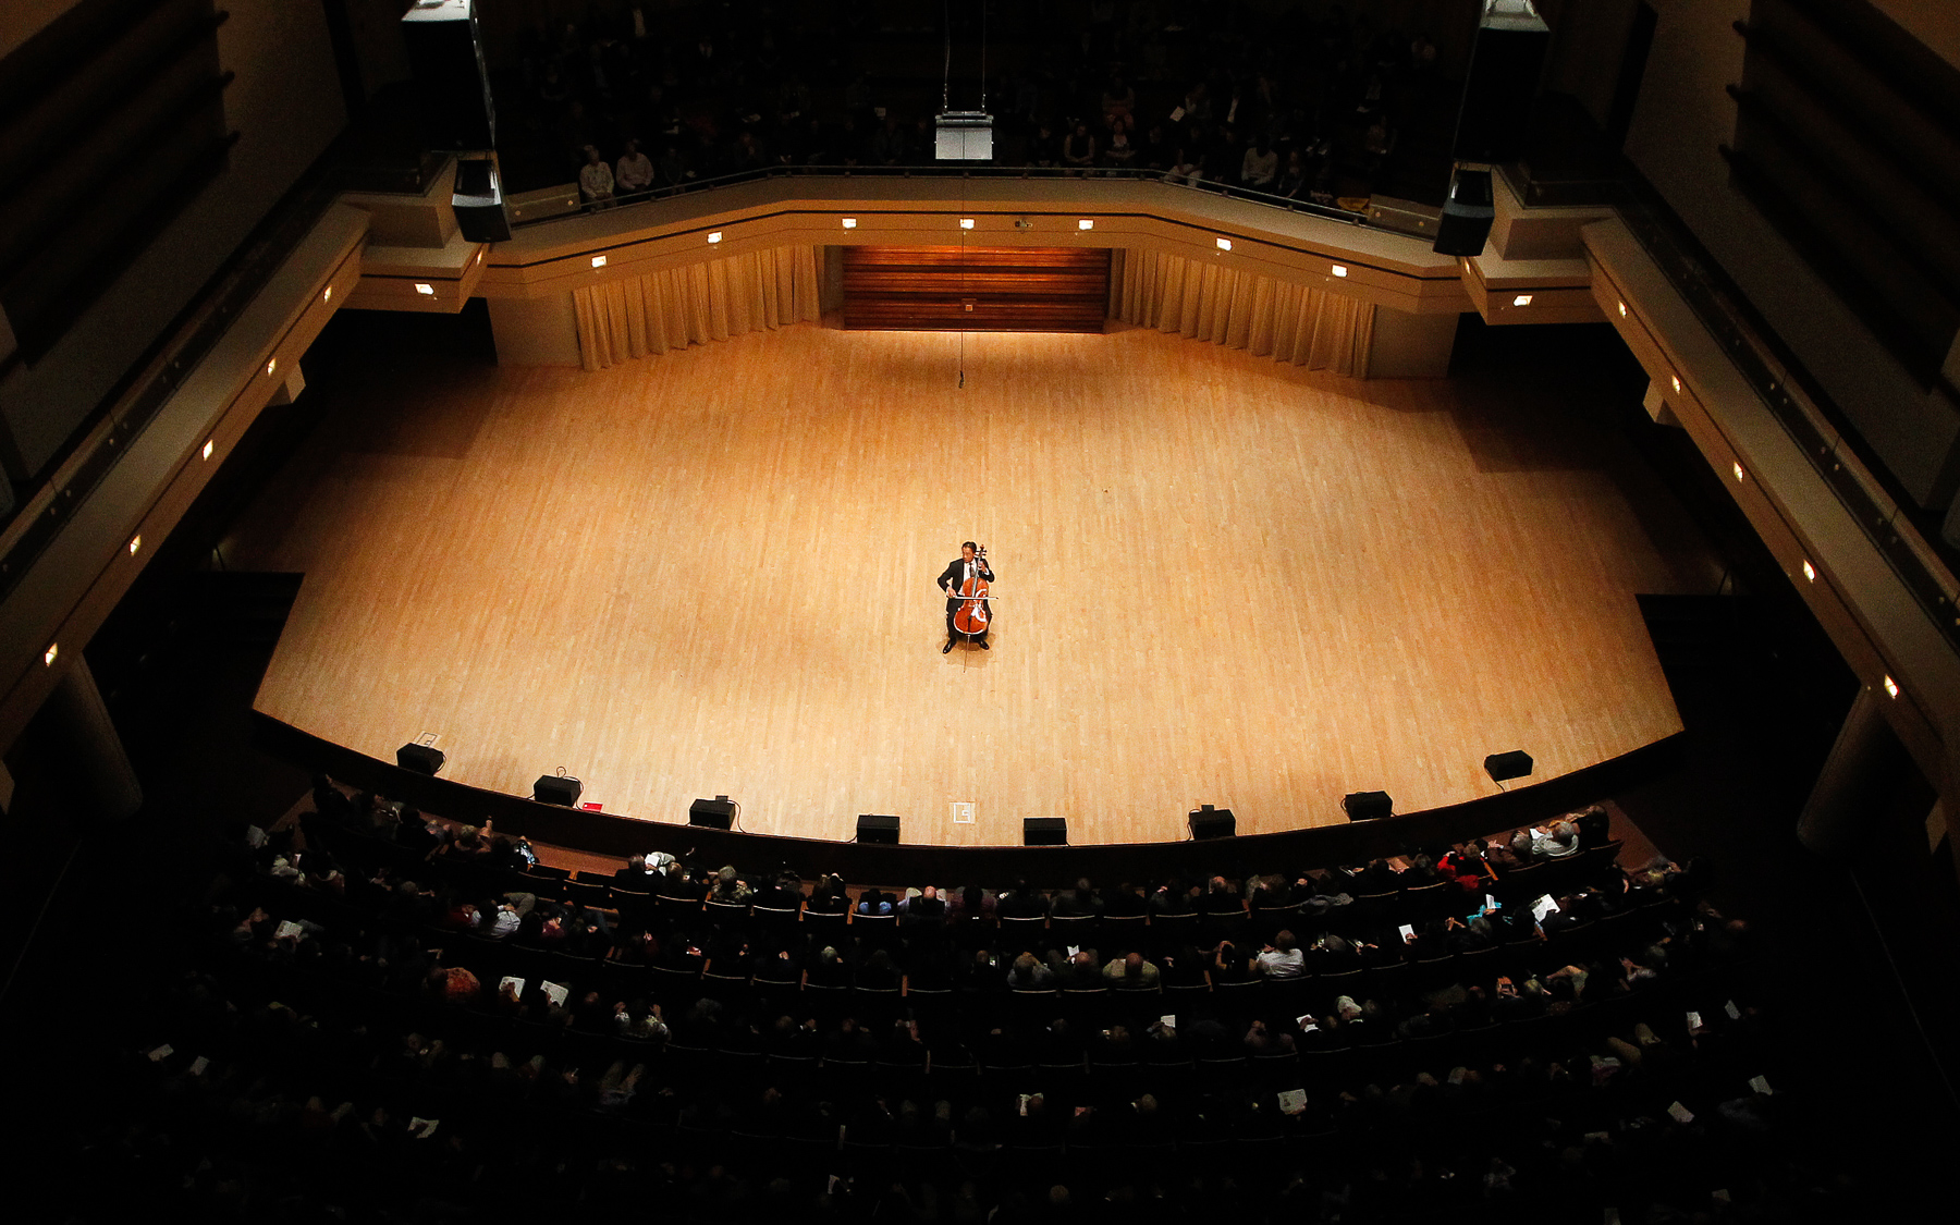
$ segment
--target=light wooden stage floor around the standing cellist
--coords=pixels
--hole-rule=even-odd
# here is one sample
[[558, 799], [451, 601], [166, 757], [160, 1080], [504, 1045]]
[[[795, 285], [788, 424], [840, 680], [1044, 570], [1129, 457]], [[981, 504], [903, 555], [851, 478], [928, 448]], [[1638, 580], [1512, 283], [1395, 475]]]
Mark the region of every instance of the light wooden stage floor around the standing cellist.
[[[564, 766], [643, 819], [727, 794], [751, 831], [1111, 843], [1200, 802], [1241, 833], [1452, 804], [1486, 753], [1546, 778], [1678, 731], [1635, 594], [1711, 590], [1658, 482], [1574, 423], [1597, 388], [1543, 380], [798, 325], [331, 394], [227, 543], [306, 572], [259, 710], [390, 759], [439, 733], [494, 790]], [[941, 655], [962, 539], [1000, 627]]]

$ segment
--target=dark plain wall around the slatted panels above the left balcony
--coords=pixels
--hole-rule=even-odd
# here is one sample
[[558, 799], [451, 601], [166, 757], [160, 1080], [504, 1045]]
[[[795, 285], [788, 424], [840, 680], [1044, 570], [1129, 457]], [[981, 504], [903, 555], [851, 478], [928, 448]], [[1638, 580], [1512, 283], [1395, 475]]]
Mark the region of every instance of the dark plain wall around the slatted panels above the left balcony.
[[[4, 57], [84, 0], [0, 4]], [[229, 163], [31, 367], [0, 382], [0, 453], [27, 480], [192, 300], [347, 122], [321, 0], [223, 0], [218, 55], [235, 73], [225, 125]], [[114, 182], [104, 182], [114, 190]], [[4, 488], [4, 486], [0, 486]], [[0, 506], [8, 498], [0, 492]]]

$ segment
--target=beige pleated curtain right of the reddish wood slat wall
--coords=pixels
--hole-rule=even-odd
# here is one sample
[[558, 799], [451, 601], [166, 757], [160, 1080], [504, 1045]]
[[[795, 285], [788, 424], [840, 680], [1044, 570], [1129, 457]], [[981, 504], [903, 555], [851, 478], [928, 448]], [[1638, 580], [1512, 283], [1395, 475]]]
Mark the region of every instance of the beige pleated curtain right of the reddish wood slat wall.
[[1129, 251], [1121, 276], [1115, 318], [1125, 323], [1309, 370], [1368, 376], [1368, 302], [1158, 251]]

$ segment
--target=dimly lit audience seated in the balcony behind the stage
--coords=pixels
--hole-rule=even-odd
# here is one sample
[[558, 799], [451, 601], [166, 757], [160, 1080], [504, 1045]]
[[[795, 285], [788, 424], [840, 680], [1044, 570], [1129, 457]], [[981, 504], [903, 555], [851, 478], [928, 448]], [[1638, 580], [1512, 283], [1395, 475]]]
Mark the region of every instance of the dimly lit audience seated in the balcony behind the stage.
[[[919, 51], [898, 22], [780, 6], [760, 20], [600, 10], [547, 25], [539, 0], [517, 6], [519, 22], [523, 10], [531, 24], [517, 45], [490, 47], [494, 63], [514, 65], [496, 74], [506, 163], [541, 161], [537, 174], [559, 182], [576, 176], [588, 206], [766, 167], [935, 159], [939, 98], [907, 80]], [[1425, 106], [1437, 45], [1341, 6], [1092, 20], [1078, 39], [1053, 20], [1011, 29], [1005, 51], [1019, 51], [1019, 65], [990, 92], [998, 165], [1156, 171], [1296, 200], [1331, 198], [1337, 186], [1366, 196], [1392, 174], [1409, 123], [1441, 123]], [[1027, 33], [1037, 29], [1053, 41]], [[858, 71], [853, 51], [872, 55], [874, 69]], [[1446, 141], [1446, 131], [1431, 135]], [[662, 155], [649, 161], [639, 149], [653, 141]]]

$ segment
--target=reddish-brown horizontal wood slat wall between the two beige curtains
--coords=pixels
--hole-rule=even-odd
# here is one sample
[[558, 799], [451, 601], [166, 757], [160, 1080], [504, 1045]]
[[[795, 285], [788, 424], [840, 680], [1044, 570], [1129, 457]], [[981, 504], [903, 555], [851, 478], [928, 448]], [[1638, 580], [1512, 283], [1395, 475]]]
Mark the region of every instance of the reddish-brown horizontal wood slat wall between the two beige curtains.
[[845, 247], [845, 327], [1102, 331], [1109, 251]]

